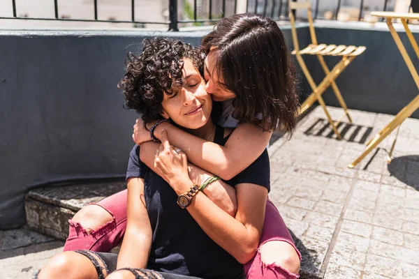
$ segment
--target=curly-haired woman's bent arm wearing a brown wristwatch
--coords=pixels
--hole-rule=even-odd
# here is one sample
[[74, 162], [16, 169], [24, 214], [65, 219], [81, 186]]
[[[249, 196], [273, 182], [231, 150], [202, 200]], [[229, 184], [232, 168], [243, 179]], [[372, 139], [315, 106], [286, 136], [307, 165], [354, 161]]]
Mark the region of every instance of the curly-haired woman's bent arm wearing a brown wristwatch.
[[[184, 153], [176, 153], [163, 133], [162, 146], [154, 160], [156, 173], [168, 181], [177, 195], [191, 188]], [[202, 193], [197, 193], [186, 208], [198, 225], [219, 246], [238, 262], [248, 262], [256, 253], [265, 220], [267, 188], [251, 183], [239, 183], [235, 218], [222, 211]]]

